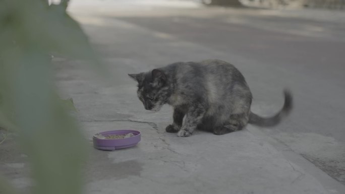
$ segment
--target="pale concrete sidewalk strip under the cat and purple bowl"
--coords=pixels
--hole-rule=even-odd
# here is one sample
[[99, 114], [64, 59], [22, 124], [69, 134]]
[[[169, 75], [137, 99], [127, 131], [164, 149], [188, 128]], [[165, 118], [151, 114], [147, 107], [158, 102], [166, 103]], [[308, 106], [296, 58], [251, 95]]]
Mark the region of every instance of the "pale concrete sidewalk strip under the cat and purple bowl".
[[[91, 79], [92, 74], [80, 62], [56, 62], [60, 63], [59, 86], [73, 97], [86, 137], [124, 128], [142, 133], [137, 147], [113, 152], [95, 150], [90, 141], [86, 193], [345, 191], [343, 185], [313, 164], [283, 147], [279, 149], [277, 142], [272, 146], [252, 126], [224, 136], [196, 132], [192, 137], [178, 138], [176, 134], [165, 133], [165, 126], [172, 120], [171, 109], [164, 107], [158, 113], [146, 111], [136, 97], [136, 83], [127, 76], [176, 59], [222, 58], [227, 53], [115, 19], [75, 17], [107, 61], [114, 81], [104, 84]], [[161, 54], [162, 51], [169, 55]], [[273, 108], [280, 105], [277, 103]]]

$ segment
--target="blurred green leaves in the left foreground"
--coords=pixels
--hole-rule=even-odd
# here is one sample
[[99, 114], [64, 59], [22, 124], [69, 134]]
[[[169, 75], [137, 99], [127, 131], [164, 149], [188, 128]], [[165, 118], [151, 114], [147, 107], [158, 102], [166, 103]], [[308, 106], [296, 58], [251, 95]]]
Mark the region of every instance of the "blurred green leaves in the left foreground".
[[[0, 126], [18, 133], [35, 194], [82, 191], [85, 142], [68, 114], [73, 101], [56, 95], [49, 53], [99, 61], [66, 7], [67, 1], [0, 0]], [[18, 193], [3, 176], [0, 192]]]

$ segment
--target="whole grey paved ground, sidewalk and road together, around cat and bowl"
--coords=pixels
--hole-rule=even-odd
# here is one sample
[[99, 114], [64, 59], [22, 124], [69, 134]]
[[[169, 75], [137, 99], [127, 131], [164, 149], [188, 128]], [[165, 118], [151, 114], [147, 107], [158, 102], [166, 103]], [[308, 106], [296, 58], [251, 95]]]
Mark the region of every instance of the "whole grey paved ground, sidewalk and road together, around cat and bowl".
[[[107, 62], [111, 82], [95, 77], [81, 61], [55, 59], [57, 84], [62, 95], [73, 98], [87, 141], [107, 130], [142, 132], [141, 143], [126, 150], [98, 151], [90, 141], [85, 193], [345, 193], [342, 184], [303, 158], [343, 180], [344, 44], [334, 40], [343, 38], [341, 26], [317, 20], [331, 35], [313, 34], [313, 28], [293, 30], [307, 21], [260, 11], [241, 16], [190, 4], [188, 9], [126, 6], [71, 9]], [[238, 21], [234, 18], [245, 19], [226, 22]], [[146, 111], [127, 74], [205, 58], [233, 62], [244, 73], [257, 113], [278, 110], [282, 88], [292, 86], [294, 113], [271, 130], [249, 125], [224, 136], [196, 132], [189, 138], [165, 133], [171, 109]], [[0, 149], [0, 171], [25, 190], [26, 156], [10, 140]]]

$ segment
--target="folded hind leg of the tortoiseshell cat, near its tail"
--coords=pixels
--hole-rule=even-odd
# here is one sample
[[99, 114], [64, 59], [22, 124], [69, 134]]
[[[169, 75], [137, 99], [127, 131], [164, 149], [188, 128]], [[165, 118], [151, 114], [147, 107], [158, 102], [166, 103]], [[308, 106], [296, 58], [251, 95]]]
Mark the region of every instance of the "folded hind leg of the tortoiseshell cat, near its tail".
[[229, 119], [219, 126], [213, 128], [213, 134], [215, 135], [224, 135], [231, 132], [237, 132], [242, 130], [244, 126], [248, 123], [248, 114], [232, 114]]

